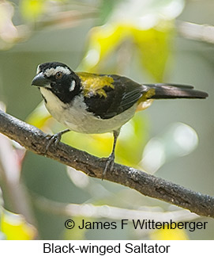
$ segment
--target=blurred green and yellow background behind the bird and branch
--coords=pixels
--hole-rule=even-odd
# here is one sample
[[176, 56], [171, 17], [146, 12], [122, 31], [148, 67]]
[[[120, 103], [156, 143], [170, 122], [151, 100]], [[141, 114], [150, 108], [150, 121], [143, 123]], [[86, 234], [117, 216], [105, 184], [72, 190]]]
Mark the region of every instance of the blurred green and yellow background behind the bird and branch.
[[[117, 73], [137, 82], [177, 82], [205, 90], [206, 100], [155, 101], [137, 113], [122, 128], [116, 162], [213, 195], [213, 22], [212, 0], [2, 1], [0, 101], [13, 116], [45, 132], [60, 131], [62, 126], [43, 105], [37, 107], [42, 98], [31, 86], [37, 65], [48, 61], [66, 63], [74, 71]], [[100, 157], [111, 152], [111, 134], [70, 132], [62, 140]], [[2, 239], [214, 239], [212, 219], [25, 154], [4, 136], [0, 148]], [[90, 205], [73, 212], [73, 204]], [[101, 205], [108, 206], [98, 214]], [[133, 209], [133, 216], [141, 211], [141, 219], [208, 221], [208, 228], [148, 232], [64, 227], [71, 218], [76, 224], [82, 219], [118, 221], [126, 216], [122, 209]]]

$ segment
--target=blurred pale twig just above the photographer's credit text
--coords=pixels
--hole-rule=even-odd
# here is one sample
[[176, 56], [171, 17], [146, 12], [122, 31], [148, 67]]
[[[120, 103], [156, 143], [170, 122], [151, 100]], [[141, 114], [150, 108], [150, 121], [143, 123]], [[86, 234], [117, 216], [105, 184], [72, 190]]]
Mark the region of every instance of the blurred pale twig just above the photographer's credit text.
[[111, 220], [140, 220], [149, 219], [154, 221], [172, 220], [175, 222], [195, 220], [199, 216], [187, 210], [176, 210], [170, 212], [163, 212], [162, 209], [157, 210], [154, 207], [146, 207], [142, 209], [127, 209], [118, 208], [109, 205], [94, 205], [94, 204], [65, 204], [61, 202], [52, 201], [46, 197], [41, 197], [32, 194], [33, 204], [36, 207], [51, 214], [58, 216], [73, 216], [73, 217], [88, 217], [88, 218], [107, 218]]

